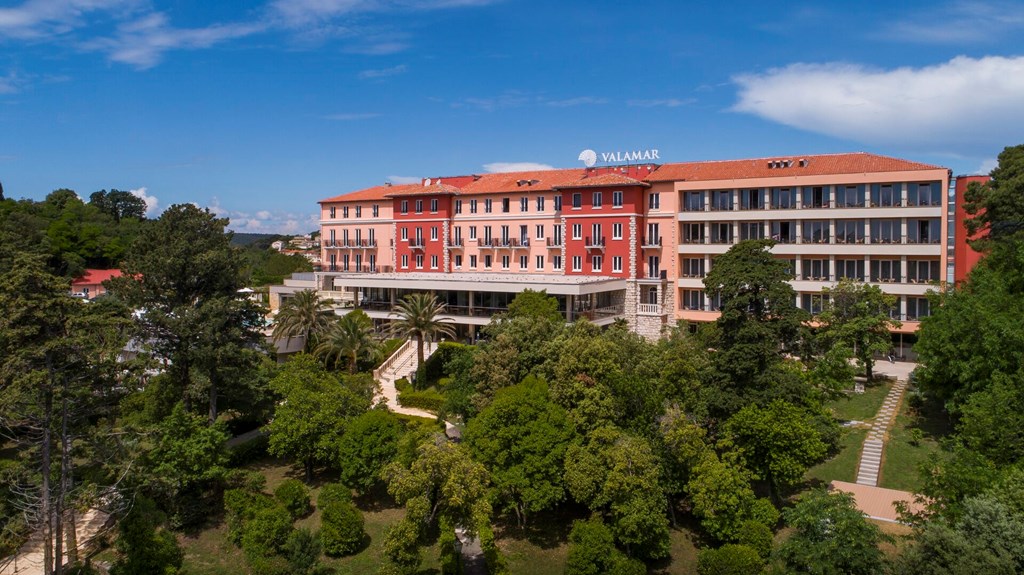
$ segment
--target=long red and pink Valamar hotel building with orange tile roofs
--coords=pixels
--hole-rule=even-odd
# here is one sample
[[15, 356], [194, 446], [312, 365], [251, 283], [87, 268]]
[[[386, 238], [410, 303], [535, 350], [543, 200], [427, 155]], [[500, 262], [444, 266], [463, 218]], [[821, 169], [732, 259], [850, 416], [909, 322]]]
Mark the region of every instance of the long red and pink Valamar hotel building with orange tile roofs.
[[949, 187], [945, 168], [869, 153], [428, 178], [319, 202], [312, 279], [381, 321], [433, 292], [461, 336], [530, 289], [567, 319], [653, 338], [717, 318], [701, 282], [715, 257], [770, 238], [797, 305], [815, 312], [839, 279], [868, 281], [898, 297], [898, 333], [912, 334], [952, 257]]

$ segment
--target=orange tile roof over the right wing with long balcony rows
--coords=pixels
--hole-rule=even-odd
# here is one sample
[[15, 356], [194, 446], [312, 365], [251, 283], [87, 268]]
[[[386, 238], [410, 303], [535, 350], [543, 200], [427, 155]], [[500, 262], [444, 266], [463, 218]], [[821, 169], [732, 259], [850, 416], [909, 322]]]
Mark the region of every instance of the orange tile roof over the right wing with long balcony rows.
[[[801, 166], [801, 160], [806, 161], [807, 165]], [[778, 162], [792, 162], [792, 164], [786, 167], [770, 167], [772, 163]], [[737, 180], [746, 178], [824, 176], [830, 174], [864, 174], [941, 169], [939, 166], [858, 151], [854, 153], [783, 156], [752, 160], [664, 164], [648, 176], [646, 180], [652, 182]]]

